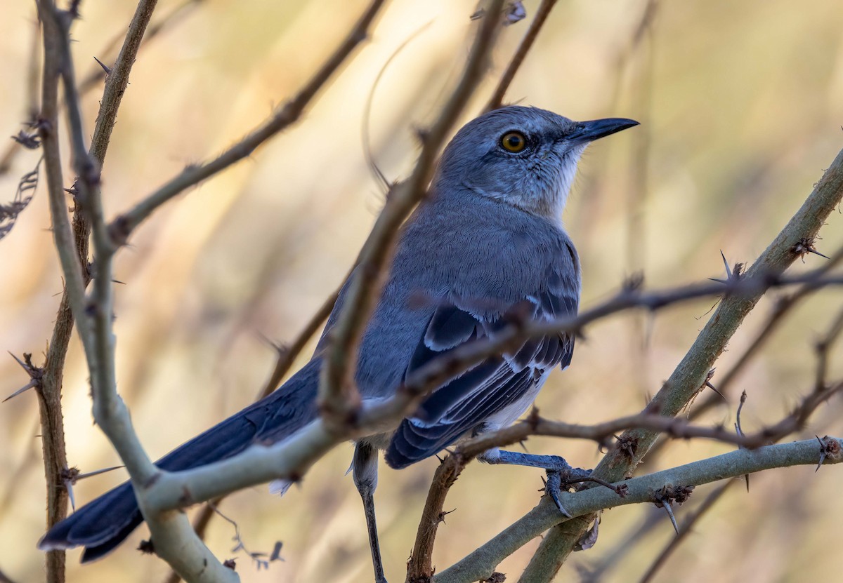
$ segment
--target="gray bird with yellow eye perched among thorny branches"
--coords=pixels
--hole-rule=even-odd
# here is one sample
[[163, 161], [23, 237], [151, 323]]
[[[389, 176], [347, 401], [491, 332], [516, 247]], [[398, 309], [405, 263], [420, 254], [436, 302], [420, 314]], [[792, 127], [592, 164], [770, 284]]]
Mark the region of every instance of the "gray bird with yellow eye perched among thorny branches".
[[[494, 336], [512, 318], [552, 322], [577, 313], [580, 266], [561, 212], [589, 142], [636, 126], [626, 119], [577, 122], [550, 111], [511, 106], [466, 124], [445, 148], [427, 198], [401, 228], [395, 260], [363, 334], [357, 362], [362, 398], [384, 399], [432, 359]], [[281, 388], [158, 461], [165, 470], [196, 468], [234, 456], [255, 441], [282, 441], [319, 416], [316, 393], [327, 334], [313, 358]], [[511, 425], [550, 372], [571, 362], [574, 338], [550, 334], [491, 356], [444, 383], [395, 431], [357, 441], [352, 461], [372, 546], [375, 580], [384, 583], [374, 521], [378, 451], [405, 468], [465, 436]], [[490, 450], [487, 463], [569, 469], [556, 456]], [[126, 482], [56, 524], [42, 549], [84, 546], [83, 563], [109, 553], [143, 518]]]

